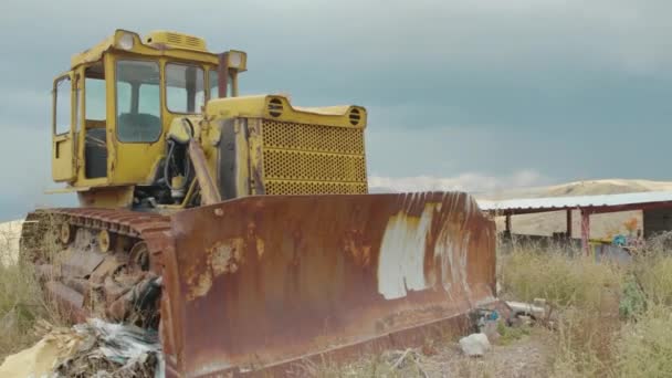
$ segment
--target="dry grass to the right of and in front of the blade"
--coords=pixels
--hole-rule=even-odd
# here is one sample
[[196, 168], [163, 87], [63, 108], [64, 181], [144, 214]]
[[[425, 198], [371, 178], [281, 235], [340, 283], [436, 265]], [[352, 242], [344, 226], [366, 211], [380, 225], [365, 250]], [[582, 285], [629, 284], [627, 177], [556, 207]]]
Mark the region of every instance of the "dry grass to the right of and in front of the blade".
[[[523, 376], [672, 377], [672, 251], [664, 246], [670, 240], [652, 242], [630, 264], [596, 262], [560, 248], [516, 246], [500, 259], [502, 295], [529, 302], [546, 298], [553, 329], [537, 327], [528, 335], [508, 328], [492, 356], [470, 359], [456, 350], [421, 355], [421, 366], [429, 368], [430, 377], [513, 377], [507, 365], [513, 344], [513, 349], [527, 348], [526, 355], [543, 359]], [[439, 349], [455, 349], [454, 339], [437, 344]], [[393, 369], [389, 358], [370, 356], [307, 371], [316, 377], [424, 376], [413, 366], [405, 368]]]

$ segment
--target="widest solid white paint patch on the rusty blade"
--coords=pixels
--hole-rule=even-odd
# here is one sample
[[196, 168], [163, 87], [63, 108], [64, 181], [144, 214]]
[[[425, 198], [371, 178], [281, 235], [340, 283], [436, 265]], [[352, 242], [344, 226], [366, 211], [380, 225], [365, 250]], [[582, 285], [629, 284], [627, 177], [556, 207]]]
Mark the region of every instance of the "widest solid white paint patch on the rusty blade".
[[420, 218], [401, 211], [388, 221], [378, 262], [378, 292], [386, 300], [405, 297], [409, 290], [428, 288], [424, 244], [434, 208], [435, 204], [426, 206]]

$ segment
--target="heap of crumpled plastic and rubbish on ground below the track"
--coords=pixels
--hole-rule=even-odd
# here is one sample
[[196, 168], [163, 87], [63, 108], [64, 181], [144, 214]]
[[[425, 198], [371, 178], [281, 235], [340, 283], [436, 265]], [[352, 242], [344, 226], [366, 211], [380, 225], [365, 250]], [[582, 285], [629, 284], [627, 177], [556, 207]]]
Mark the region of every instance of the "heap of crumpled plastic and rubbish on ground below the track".
[[164, 377], [158, 334], [98, 318], [46, 334], [35, 346], [9, 356], [1, 377]]

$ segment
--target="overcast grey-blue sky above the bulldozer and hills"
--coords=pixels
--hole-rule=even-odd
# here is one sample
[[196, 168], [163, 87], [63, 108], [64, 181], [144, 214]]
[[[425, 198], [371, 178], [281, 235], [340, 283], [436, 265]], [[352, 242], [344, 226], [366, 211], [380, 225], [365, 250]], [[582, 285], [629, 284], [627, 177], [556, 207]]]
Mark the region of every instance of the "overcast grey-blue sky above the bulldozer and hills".
[[50, 88], [115, 29], [246, 51], [243, 94], [366, 106], [377, 185], [666, 180], [670, 14], [663, 0], [2, 0], [0, 220], [72, 201], [41, 195], [53, 187]]

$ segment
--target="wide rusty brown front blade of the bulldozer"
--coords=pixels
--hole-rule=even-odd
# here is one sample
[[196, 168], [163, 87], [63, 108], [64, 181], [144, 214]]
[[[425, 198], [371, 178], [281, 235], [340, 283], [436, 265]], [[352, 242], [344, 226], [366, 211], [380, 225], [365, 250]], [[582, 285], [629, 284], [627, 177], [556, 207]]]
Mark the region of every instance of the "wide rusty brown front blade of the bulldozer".
[[494, 223], [465, 193], [249, 197], [174, 214], [171, 229], [174, 376], [408, 346], [494, 301]]

